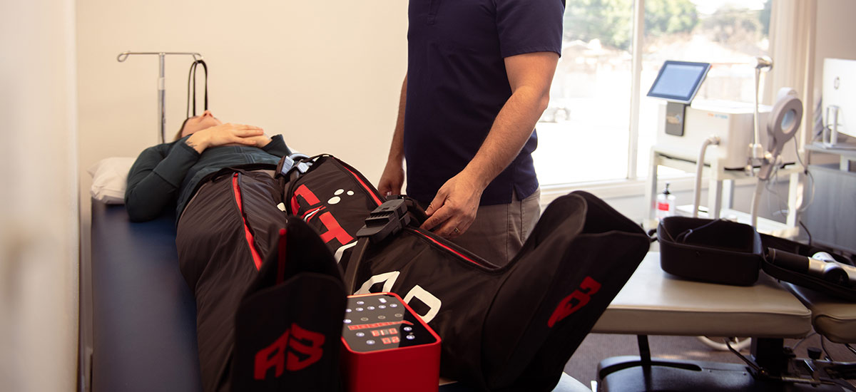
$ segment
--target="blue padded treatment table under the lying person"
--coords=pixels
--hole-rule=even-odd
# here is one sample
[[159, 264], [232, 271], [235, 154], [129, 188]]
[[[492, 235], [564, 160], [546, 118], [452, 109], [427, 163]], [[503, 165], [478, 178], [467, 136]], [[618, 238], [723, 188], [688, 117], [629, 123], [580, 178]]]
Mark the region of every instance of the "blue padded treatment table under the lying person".
[[[131, 223], [124, 205], [92, 201], [92, 312], [93, 392], [202, 390], [196, 302], [179, 270], [173, 214]], [[589, 391], [567, 374], [554, 390]]]

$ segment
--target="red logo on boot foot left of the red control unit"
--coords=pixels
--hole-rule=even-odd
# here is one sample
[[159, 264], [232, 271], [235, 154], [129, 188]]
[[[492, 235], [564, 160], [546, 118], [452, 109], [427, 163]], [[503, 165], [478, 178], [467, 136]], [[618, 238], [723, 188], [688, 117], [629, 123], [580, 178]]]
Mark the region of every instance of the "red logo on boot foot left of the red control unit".
[[[274, 377], [282, 376], [283, 370], [300, 371], [318, 362], [324, 355], [324, 335], [304, 330], [300, 325], [291, 324], [291, 328], [279, 336], [268, 347], [256, 353], [253, 377], [264, 380], [270, 368], [274, 368]], [[290, 350], [289, 350], [290, 348]], [[300, 353], [302, 355], [297, 355]], [[302, 359], [301, 359], [302, 358]]]

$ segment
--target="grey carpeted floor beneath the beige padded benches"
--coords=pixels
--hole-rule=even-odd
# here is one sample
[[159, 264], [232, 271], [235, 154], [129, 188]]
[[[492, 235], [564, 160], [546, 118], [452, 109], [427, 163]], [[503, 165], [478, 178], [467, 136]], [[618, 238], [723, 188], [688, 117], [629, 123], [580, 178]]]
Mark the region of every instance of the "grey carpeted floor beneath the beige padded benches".
[[[734, 353], [707, 347], [694, 336], [649, 336], [648, 342], [651, 346], [651, 356], [657, 358], [742, 363]], [[847, 350], [847, 347], [829, 341], [824, 344], [825, 352], [832, 359], [856, 362], [856, 354]], [[796, 346], [794, 351], [800, 358], [808, 357], [808, 347], [822, 348], [820, 336], [817, 335], [809, 336], [805, 342], [788, 339], [785, 345]], [[748, 349], [742, 353], [748, 354]], [[636, 336], [589, 334], [565, 365], [565, 372], [591, 387], [591, 381], [597, 379], [597, 364], [603, 359], [619, 355], [639, 355]]]

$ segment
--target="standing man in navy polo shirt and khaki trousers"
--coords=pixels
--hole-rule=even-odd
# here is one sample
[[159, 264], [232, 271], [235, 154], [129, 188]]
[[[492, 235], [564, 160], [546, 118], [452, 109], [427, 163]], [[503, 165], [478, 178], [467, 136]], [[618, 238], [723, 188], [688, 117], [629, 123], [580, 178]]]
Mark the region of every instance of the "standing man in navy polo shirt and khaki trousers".
[[532, 151], [562, 50], [564, 0], [410, 0], [407, 76], [378, 190], [423, 229], [506, 264], [538, 221]]

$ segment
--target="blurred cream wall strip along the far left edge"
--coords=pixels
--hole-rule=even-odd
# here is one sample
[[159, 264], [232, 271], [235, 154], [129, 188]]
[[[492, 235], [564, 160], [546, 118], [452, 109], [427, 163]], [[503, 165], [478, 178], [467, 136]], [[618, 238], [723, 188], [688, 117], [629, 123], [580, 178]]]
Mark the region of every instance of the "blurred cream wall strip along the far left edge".
[[74, 389], [74, 1], [0, 3], [0, 389]]

